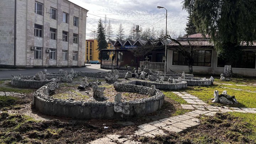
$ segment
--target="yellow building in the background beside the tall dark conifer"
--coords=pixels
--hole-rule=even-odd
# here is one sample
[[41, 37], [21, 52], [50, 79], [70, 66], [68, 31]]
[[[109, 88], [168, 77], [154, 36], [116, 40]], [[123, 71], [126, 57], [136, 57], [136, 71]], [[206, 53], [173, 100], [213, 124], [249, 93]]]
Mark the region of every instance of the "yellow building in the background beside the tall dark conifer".
[[[86, 39], [85, 41], [86, 43], [86, 49], [85, 49], [85, 62], [87, 62], [87, 60], [98, 60], [100, 61], [100, 59], [98, 59], [98, 42], [96, 39]], [[113, 46], [111, 43], [108, 43], [108, 47], [107, 49], [112, 49]], [[110, 53], [110, 59], [112, 58], [113, 53]]]

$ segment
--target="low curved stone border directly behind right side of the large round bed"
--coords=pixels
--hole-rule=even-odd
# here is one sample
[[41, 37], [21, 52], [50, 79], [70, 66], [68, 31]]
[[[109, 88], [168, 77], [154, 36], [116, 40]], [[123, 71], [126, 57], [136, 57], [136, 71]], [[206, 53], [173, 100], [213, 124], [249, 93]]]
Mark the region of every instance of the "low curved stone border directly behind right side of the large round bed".
[[142, 85], [150, 87], [151, 85], [155, 85], [156, 89], [161, 90], [180, 90], [180, 89], [186, 89], [187, 88], [187, 82], [176, 80], [176, 83], [158, 83], [155, 81], [147, 81], [147, 80], [136, 80], [132, 82], [127, 82], [127, 84], [134, 84], [134, 85]]

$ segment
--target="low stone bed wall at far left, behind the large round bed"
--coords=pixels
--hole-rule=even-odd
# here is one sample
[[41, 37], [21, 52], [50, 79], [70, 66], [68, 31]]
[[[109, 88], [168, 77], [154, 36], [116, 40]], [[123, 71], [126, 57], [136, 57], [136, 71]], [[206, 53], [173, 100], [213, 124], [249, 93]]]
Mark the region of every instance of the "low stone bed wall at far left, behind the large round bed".
[[38, 89], [51, 82], [51, 80], [26, 80], [26, 79], [12, 79], [11, 85], [18, 88]]

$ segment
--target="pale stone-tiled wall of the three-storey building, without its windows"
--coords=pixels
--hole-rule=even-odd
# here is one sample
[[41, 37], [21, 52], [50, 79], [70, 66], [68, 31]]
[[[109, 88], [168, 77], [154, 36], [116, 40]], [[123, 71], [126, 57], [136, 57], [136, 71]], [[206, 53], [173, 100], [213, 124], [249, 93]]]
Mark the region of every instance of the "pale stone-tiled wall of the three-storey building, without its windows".
[[[16, 14], [16, 66], [17, 67], [62, 67], [84, 66], [87, 10], [67, 0], [37, 0], [43, 4], [43, 15], [34, 13], [34, 0], [17, 0]], [[14, 65], [15, 0], [0, 1], [0, 65]], [[57, 10], [56, 20], [50, 18], [49, 10]], [[63, 12], [68, 13], [68, 23], [63, 22]], [[78, 27], [73, 26], [74, 16], [79, 17]], [[34, 36], [34, 24], [42, 25], [42, 37]], [[50, 39], [50, 28], [57, 29], [56, 40]], [[5, 31], [6, 30], [6, 31]], [[68, 42], [63, 42], [62, 32], [68, 32]], [[7, 34], [8, 33], [8, 34]], [[73, 43], [73, 33], [79, 35], [78, 44]], [[4, 36], [1, 38], [1, 36]], [[42, 59], [34, 59], [31, 47], [43, 47]], [[49, 60], [48, 48], [56, 49], [56, 58]], [[62, 60], [62, 50], [68, 50], [68, 60]], [[78, 60], [73, 62], [73, 51], [78, 51]]]

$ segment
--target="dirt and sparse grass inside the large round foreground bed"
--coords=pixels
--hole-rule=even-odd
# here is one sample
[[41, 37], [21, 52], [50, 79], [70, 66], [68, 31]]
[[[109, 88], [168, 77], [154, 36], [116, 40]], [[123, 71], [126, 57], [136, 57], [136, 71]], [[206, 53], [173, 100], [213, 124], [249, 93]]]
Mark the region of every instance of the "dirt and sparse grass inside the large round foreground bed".
[[[150, 95], [143, 95], [135, 92], [116, 91], [113, 85], [107, 83], [100, 85], [100, 87], [106, 87], [104, 96], [106, 97], [107, 101], [110, 102], [114, 102], [114, 96], [118, 93], [121, 93], [123, 101], [139, 100], [142, 98], [150, 97]], [[52, 95], [52, 97], [64, 100], [72, 98], [75, 101], [85, 102], [94, 100], [92, 87], [86, 87], [84, 90], [78, 90], [77, 86], [60, 86], [59, 89], [55, 91], [55, 94]]]

